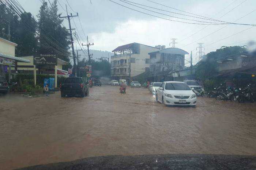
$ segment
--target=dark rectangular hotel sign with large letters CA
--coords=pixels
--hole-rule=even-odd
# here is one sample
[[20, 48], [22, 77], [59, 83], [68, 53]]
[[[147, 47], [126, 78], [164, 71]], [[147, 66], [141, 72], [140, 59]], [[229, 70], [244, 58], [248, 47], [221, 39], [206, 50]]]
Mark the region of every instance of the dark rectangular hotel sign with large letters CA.
[[57, 66], [56, 54], [40, 54], [40, 56], [34, 56], [34, 65], [50, 65]]

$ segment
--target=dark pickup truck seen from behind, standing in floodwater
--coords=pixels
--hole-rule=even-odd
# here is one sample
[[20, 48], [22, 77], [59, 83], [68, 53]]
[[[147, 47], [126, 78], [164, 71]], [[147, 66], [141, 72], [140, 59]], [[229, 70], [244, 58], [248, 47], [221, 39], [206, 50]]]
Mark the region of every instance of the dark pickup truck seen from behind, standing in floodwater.
[[80, 95], [81, 97], [89, 95], [87, 83], [84, 83], [82, 77], [68, 77], [60, 84], [61, 97]]

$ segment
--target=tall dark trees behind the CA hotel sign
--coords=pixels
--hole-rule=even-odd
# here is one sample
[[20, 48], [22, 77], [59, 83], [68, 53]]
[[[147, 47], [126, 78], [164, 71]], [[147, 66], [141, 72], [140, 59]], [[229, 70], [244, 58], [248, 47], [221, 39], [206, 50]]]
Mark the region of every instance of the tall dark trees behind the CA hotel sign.
[[[50, 7], [49, 7], [50, 6]], [[57, 0], [50, 5], [43, 3], [37, 15], [29, 12], [17, 15], [8, 6], [0, 4], [0, 37], [18, 44], [16, 56], [55, 53], [69, 62], [69, 36], [58, 18]], [[10, 37], [8, 36], [10, 24]]]

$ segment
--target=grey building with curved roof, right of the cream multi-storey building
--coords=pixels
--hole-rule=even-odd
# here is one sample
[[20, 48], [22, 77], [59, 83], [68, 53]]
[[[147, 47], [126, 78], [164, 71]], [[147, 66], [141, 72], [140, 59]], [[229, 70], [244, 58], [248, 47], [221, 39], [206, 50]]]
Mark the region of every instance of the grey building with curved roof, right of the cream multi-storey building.
[[150, 72], [154, 74], [183, 70], [187, 51], [167, 48], [148, 53], [150, 55]]

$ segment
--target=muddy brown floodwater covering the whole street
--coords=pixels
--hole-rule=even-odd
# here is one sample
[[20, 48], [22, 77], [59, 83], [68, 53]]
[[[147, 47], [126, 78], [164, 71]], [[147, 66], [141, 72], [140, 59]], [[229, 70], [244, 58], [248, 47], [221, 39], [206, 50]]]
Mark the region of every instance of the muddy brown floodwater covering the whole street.
[[90, 88], [89, 97], [0, 96], [0, 167], [103, 155], [256, 155], [256, 104], [198, 98], [165, 107], [147, 89]]

